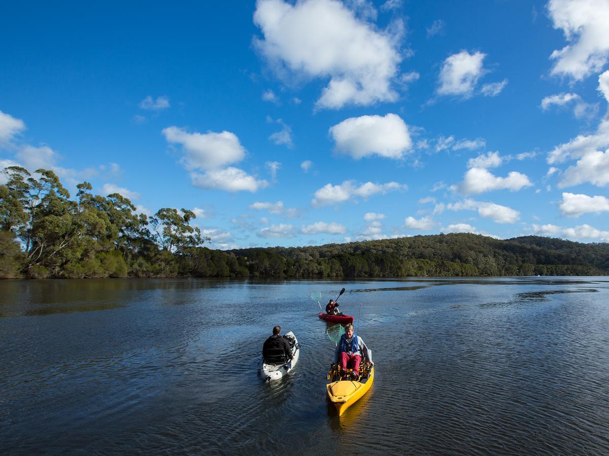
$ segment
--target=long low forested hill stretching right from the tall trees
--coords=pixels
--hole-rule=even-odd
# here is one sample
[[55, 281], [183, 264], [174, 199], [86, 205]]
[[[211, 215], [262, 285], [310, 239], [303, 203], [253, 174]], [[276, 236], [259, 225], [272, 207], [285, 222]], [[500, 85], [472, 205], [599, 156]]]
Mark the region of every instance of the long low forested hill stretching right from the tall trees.
[[[609, 274], [609, 244], [536, 236], [497, 240], [451, 233], [231, 253], [250, 260], [264, 256], [270, 269], [280, 266], [276, 263], [281, 258], [281, 263], [292, 265], [289, 275], [316, 275], [315, 265], [322, 269], [322, 275], [347, 277]], [[264, 271], [261, 268], [259, 272]]]

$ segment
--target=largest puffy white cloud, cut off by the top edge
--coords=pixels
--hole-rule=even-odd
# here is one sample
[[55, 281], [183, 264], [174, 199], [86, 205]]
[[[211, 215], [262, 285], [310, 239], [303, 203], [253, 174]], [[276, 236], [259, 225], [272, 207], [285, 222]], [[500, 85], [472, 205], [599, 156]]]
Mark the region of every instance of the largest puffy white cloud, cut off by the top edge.
[[396, 37], [377, 32], [335, 0], [258, 0], [255, 46], [278, 72], [330, 78], [318, 108], [396, 100], [390, 84], [401, 61]]

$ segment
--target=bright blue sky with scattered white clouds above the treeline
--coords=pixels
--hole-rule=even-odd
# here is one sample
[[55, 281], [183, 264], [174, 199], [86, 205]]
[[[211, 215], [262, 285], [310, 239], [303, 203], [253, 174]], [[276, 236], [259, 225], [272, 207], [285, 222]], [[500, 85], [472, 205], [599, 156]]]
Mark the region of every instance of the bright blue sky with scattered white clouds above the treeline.
[[207, 3], [5, 5], [0, 165], [217, 249], [609, 241], [609, 1]]

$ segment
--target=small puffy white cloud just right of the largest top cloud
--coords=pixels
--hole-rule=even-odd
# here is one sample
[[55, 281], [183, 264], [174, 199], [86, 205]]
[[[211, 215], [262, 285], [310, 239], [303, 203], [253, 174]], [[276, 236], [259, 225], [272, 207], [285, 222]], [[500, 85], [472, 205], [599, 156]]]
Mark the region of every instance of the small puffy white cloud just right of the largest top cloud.
[[485, 57], [486, 54], [482, 52], [470, 54], [462, 50], [446, 58], [440, 70], [440, 86], [437, 94], [471, 97], [479, 78], [485, 73], [482, 67]]

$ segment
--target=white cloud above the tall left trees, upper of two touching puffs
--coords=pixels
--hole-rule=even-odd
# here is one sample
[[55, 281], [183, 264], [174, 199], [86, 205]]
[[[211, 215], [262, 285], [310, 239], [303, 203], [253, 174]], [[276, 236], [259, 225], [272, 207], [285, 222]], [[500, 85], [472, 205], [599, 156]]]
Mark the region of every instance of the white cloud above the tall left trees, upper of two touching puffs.
[[182, 145], [185, 156], [181, 162], [189, 171], [219, 168], [245, 157], [245, 148], [230, 131], [187, 133], [183, 128], [169, 126], [163, 129], [163, 135], [167, 142]]

